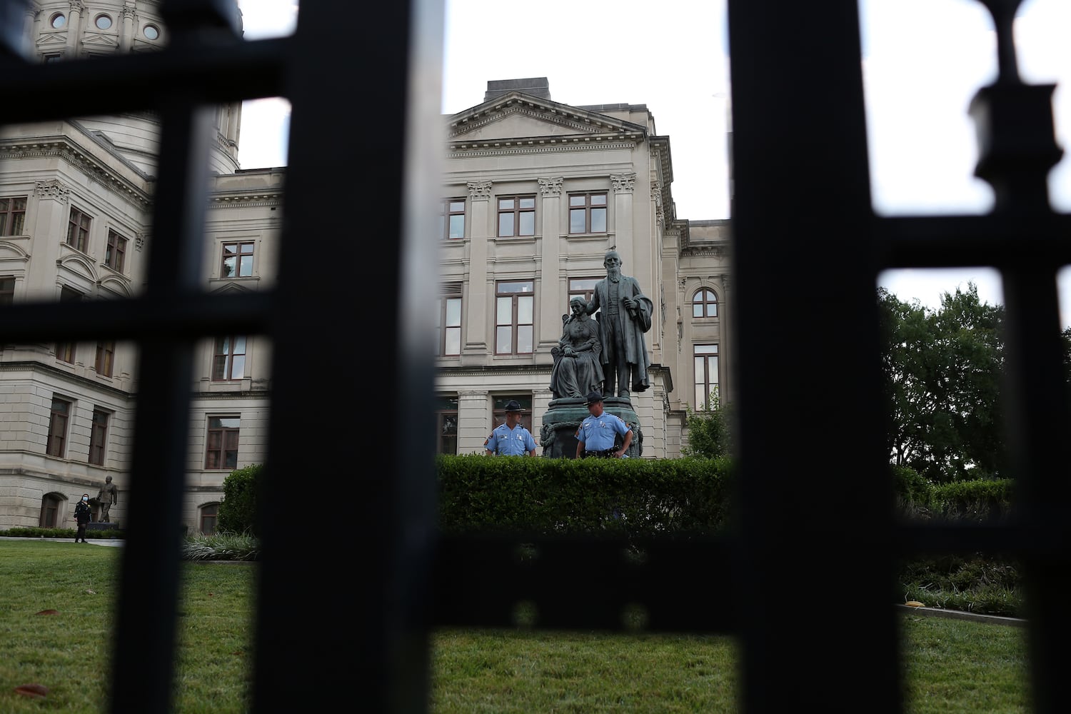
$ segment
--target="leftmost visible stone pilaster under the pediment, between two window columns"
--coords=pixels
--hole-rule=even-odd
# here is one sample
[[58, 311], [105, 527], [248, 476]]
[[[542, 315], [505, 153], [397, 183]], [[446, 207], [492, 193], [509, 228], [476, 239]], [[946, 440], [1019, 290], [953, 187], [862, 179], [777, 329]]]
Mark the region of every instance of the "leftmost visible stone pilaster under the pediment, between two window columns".
[[494, 286], [487, 284], [491, 242], [487, 229], [494, 218], [494, 212], [491, 211], [491, 181], [470, 181], [468, 184], [469, 201], [472, 203], [472, 231], [469, 239], [469, 293], [465, 300], [467, 319], [462, 364], [482, 364], [487, 355], [487, 309], [493, 309], [492, 300], [495, 297]]

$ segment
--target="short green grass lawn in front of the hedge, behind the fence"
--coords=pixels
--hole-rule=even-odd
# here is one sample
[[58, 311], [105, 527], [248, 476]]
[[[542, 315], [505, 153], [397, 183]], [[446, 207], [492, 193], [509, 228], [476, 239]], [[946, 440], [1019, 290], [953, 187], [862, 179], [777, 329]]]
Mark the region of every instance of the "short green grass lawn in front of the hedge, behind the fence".
[[[120, 556], [70, 541], [0, 541], [0, 712], [104, 711]], [[256, 565], [182, 567], [174, 711], [245, 712]], [[902, 622], [908, 712], [1030, 711], [1024, 628], [912, 612]], [[431, 658], [435, 714], [736, 711], [737, 650], [726, 636], [441, 629]], [[48, 693], [16, 692], [28, 684]]]

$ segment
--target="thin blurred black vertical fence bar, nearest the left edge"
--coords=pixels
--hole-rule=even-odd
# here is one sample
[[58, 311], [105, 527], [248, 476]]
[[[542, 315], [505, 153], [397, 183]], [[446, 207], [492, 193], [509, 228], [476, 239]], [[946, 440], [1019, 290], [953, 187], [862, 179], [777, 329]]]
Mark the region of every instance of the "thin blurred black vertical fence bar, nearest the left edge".
[[[149, 299], [162, 309], [199, 290], [211, 110], [180, 93], [163, 112], [149, 246]], [[193, 340], [139, 344], [130, 508], [122, 555], [111, 712], [168, 711], [179, 544], [188, 466]], [[133, 683], [136, 683], [133, 684]]]

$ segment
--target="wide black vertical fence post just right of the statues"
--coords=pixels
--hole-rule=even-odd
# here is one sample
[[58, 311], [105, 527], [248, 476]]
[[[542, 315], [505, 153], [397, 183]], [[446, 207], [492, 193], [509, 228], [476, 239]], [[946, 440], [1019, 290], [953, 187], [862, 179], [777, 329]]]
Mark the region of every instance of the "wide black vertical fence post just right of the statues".
[[[799, 710], [895, 712], [858, 9], [729, 0], [728, 11], [743, 710], [784, 711], [791, 692]], [[820, 488], [800, 469], [816, 450]], [[848, 563], [868, 593], [850, 617], [784, 602], [785, 588], [823, 602]], [[816, 642], [839, 653], [835, 667], [803, 654]]]

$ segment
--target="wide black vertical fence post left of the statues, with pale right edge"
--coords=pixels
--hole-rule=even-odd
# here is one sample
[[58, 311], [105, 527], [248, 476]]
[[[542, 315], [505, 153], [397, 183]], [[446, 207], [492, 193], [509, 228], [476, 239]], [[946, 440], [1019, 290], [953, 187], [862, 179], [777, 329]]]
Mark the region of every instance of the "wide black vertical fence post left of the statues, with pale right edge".
[[[420, 151], [442, 151], [441, 139], [429, 149], [408, 136], [437, 125], [441, 19], [423, 37], [436, 63], [412, 66], [416, 4], [383, 4], [365, 21], [349, 2], [303, 3], [288, 57], [257, 712], [327, 710], [340, 696], [369, 712], [427, 702], [433, 344], [410, 318], [413, 305], [431, 313], [437, 282], [414, 277], [437, 253], [408, 240], [403, 196]], [[341, 18], [355, 20], [348, 41], [326, 40]], [[414, 117], [414, 75], [434, 80], [434, 117]], [[437, 165], [424, 168], [437, 193]], [[296, 488], [330, 513], [295, 518]]]

